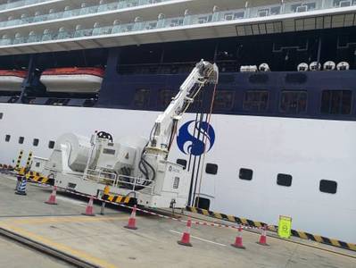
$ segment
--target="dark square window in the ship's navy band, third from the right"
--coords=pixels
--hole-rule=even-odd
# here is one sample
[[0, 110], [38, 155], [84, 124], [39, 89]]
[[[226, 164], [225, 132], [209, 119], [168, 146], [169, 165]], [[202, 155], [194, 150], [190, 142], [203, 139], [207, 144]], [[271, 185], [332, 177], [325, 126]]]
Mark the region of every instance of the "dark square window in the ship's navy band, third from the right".
[[269, 104], [269, 91], [249, 90], [244, 94], [244, 111], [266, 111]]

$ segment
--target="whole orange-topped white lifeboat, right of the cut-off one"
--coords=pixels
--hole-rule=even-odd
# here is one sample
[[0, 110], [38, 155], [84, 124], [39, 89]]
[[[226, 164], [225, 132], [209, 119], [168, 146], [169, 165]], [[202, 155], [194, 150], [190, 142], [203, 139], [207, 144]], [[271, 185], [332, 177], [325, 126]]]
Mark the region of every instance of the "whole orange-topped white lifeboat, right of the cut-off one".
[[102, 68], [54, 68], [42, 72], [47, 92], [96, 93], [103, 82]]

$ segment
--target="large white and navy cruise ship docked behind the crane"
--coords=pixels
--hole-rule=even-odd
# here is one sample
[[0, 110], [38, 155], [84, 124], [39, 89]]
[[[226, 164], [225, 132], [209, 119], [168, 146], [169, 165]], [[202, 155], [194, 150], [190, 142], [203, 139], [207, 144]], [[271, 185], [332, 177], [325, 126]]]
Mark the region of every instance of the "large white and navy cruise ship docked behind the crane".
[[216, 94], [170, 152], [187, 205], [355, 243], [355, 14], [355, 0], [0, 1], [0, 163], [49, 157], [66, 132], [147, 137], [204, 59]]

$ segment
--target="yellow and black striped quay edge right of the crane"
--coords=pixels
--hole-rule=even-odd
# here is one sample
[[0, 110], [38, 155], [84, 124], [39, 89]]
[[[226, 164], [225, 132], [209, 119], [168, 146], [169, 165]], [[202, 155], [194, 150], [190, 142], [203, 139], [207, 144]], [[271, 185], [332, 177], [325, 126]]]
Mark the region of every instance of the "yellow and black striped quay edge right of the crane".
[[[212, 211], [198, 208], [198, 207], [186, 206], [186, 210], [189, 212], [195, 213], [195, 214], [203, 214], [205, 216], [210, 216], [210, 217], [213, 217], [213, 218], [216, 218], [219, 220], [225, 220], [228, 222], [236, 222], [238, 224], [244, 224], [244, 225], [251, 226], [251, 227], [262, 227], [264, 225], [267, 225], [268, 230], [277, 231], [277, 229], [278, 229], [277, 226], [268, 225], [267, 223], [264, 223], [264, 222], [256, 222], [256, 221], [239, 218], [239, 217], [232, 216], [232, 215], [220, 214], [220, 213], [212, 212]], [[342, 247], [345, 249], [356, 251], [356, 245], [352, 244], [352, 243], [346, 243], [344, 241], [340, 241], [337, 239], [328, 239], [326, 237], [310, 234], [308, 232], [301, 231], [301, 230], [291, 230], [291, 233], [294, 237], [297, 237], [300, 239], [308, 239], [308, 240], [316, 241], [319, 243], [327, 244], [330, 246]]]

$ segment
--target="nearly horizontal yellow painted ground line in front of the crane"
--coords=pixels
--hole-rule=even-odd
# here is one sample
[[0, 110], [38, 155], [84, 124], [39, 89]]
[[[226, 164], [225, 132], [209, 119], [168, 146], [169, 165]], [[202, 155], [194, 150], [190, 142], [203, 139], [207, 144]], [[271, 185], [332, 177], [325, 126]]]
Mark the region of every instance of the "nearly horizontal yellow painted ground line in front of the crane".
[[101, 222], [101, 221], [121, 221], [128, 220], [128, 215], [115, 216], [115, 217], [87, 217], [87, 216], [74, 216], [74, 217], [41, 217], [41, 218], [20, 218], [20, 219], [6, 219], [4, 222], [11, 221], [12, 224], [41, 224], [49, 222]]

